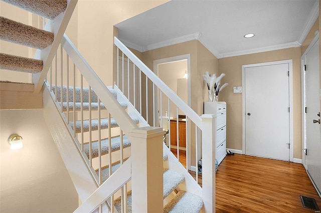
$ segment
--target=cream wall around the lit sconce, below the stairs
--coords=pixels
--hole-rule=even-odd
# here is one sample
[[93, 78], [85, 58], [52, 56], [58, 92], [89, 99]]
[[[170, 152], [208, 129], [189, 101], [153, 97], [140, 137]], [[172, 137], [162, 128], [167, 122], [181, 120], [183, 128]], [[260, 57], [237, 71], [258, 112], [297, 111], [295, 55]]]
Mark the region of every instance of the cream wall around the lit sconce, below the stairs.
[[[24, 147], [11, 150], [17, 133]], [[72, 212], [78, 194], [51, 137], [43, 110], [0, 110], [0, 212]]]

